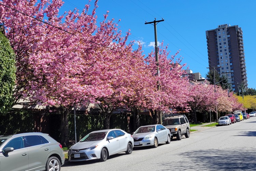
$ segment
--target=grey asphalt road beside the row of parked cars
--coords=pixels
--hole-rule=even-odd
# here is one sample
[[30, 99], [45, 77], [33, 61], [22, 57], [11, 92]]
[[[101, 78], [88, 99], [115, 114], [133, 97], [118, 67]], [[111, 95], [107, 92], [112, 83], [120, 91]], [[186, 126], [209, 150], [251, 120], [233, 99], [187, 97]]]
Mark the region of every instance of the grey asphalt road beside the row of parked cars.
[[157, 148], [134, 148], [105, 162], [68, 162], [61, 171], [256, 170], [256, 117], [190, 134]]

